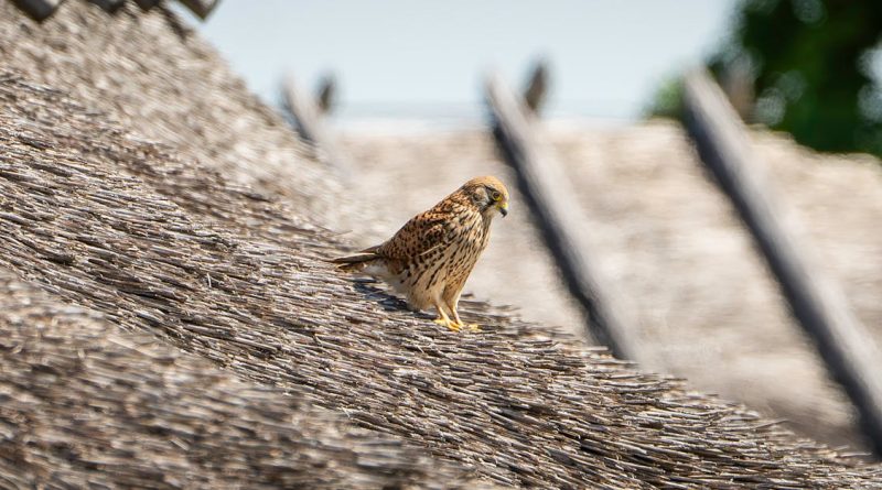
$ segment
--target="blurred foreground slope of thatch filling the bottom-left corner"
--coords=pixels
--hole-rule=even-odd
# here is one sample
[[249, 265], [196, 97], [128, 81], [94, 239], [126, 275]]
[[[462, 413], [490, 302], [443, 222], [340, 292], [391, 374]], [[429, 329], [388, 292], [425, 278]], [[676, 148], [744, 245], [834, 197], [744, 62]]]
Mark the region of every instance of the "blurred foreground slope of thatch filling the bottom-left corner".
[[475, 488], [0, 270], [0, 488]]

